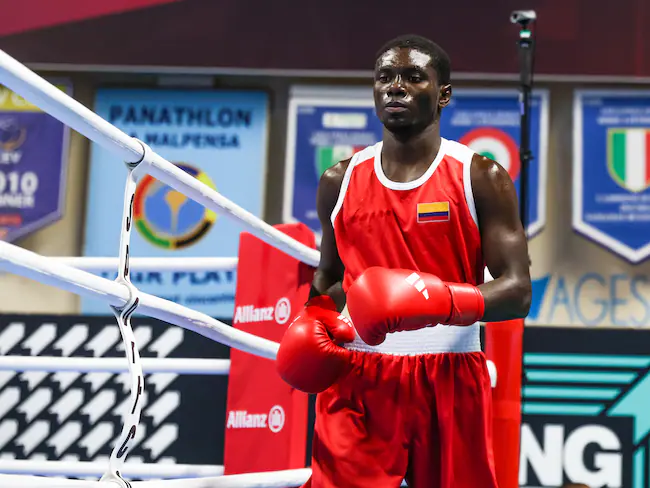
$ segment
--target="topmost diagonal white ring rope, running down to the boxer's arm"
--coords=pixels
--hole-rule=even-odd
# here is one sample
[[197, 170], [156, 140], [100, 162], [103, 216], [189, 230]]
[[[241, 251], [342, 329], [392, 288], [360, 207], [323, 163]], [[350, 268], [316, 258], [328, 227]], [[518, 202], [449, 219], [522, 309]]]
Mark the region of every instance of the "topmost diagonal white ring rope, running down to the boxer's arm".
[[0, 83], [88, 139], [115, 152], [123, 161], [127, 163], [141, 161], [145, 166], [143, 169], [153, 177], [204, 207], [234, 218], [267, 244], [306, 264], [318, 265], [318, 251], [280, 232], [155, 152], [145, 154], [139, 141], [129, 137], [1, 50]]

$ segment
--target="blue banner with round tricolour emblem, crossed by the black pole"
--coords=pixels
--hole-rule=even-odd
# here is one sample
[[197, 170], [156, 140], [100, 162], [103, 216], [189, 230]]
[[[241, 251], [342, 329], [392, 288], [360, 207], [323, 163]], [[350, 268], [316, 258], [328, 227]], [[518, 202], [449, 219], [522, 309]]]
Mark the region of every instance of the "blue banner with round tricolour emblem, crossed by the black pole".
[[[537, 234], [546, 223], [546, 154], [548, 147], [547, 91], [531, 97], [530, 150], [528, 169], [528, 235]], [[442, 111], [440, 134], [495, 160], [508, 170], [519, 194], [521, 163], [520, 103], [516, 90], [456, 89]]]

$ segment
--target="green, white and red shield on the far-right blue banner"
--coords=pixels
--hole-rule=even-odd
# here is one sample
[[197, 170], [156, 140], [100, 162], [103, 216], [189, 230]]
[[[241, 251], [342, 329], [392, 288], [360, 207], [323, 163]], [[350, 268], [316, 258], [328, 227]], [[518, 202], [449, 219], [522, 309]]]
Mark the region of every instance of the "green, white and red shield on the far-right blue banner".
[[638, 193], [650, 186], [650, 129], [611, 128], [607, 131], [607, 169], [626, 190]]

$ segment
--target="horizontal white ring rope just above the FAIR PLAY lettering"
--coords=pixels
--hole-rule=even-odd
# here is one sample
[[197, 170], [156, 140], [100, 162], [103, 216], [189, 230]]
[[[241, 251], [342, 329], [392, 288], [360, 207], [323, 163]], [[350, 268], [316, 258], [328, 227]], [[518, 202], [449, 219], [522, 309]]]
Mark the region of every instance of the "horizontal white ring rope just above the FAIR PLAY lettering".
[[[113, 271], [119, 258], [50, 257], [84, 271]], [[130, 258], [132, 271], [236, 271], [239, 258]]]

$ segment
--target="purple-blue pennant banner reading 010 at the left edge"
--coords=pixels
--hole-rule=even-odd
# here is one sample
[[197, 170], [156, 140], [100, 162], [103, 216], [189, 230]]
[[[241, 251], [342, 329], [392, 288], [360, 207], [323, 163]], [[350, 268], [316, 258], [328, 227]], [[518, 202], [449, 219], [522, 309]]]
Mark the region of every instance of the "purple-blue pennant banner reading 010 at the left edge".
[[0, 86], [0, 240], [15, 241], [61, 218], [68, 136], [64, 124]]

